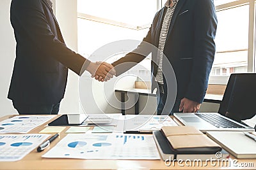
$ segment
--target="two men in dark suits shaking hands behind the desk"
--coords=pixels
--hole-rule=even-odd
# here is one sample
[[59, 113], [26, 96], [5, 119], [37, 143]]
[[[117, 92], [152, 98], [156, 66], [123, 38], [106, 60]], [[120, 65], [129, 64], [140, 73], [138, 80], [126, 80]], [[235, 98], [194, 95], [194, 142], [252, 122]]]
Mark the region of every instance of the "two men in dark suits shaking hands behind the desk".
[[[68, 69], [79, 76], [86, 70], [95, 79], [108, 81], [151, 53], [143, 49], [141, 43], [112, 64], [90, 62], [65, 45], [51, 0], [12, 0], [10, 20], [17, 48], [8, 98], [20, 114], [57, 114], [65, 94]], [[152, 89], [159, 87], [157, 114], [169, 104], [166, 97], [172, 88], [166, 85], [172, 80], [166, 80], [161, 72], [163, 55], [172, 64], [177, 81], [175, 103], [167, 112], [199, 110], [214, 60], [216, 28], [213, 0], [168, 0], [157, 11], [143, 38], [143, 42], [159, 51], [152, 53], [152, 60], [157, 64], [151, 67]], [[118, 68], [120, 64], [131, 62], [134, 63], [131, 67]]]

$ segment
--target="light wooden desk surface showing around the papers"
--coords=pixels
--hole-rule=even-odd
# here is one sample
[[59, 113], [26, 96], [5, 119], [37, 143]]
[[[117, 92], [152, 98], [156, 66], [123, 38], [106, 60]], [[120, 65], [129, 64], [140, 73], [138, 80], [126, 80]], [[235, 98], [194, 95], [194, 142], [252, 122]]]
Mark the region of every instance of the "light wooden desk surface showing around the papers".
[[[13, 116], [6, 116], [0, 118], [0, 121], [5, 120], [6, 118], [10, 118]], [[175, 120], [178, 121], [178, 120]], [[46, 124], [48, 124], [47, 122]], [[44, 125], [46, 125], [44, 124]], [[42, 129], [44, 129], [44, 125], [40, 125], [36, 129], [29, 133], [38, 133]], [[60, 137], [55, 139], [49, 148], [44, 150], [41, 153], [33, 152], [29, 153], [24, 159], [19, 160], [17, 162], [0, 162], [0, 169], [243, 169], [242, 167], [219, 167], [219, 166], [211, 166], [211, 164], [207, 164], [207, 166], [198, 167], [191, 166], [188, 167], [184, 164], [184, 167], [178, 166], [177, 162], [175, 166], [166, 166], [163, 160], [84, 160], [84, 159], [46, 159], [42, 158], [45, 152], [51, 149], [56, 143], [58, 143], [62, 138], [64, 138], [67, 134], [69, 127], [66, 127], [64, 131], [60, 133]], [[234, 160], [234, 157], [231, 157], [230, 160]], [[246, 167], [245, 169], [256, 169], [256, 159], [244, 159], [238, 160], [241, 162], [252, 162], [253, 167]], [[204, 163], [204, 162], [203, 162]]]

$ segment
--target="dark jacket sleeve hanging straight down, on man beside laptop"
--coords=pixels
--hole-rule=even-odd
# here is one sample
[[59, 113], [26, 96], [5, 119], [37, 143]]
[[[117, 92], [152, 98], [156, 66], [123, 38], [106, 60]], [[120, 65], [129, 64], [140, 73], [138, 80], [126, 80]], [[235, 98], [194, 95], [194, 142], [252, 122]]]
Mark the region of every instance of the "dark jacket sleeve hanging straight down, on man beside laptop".
[[217, 17], [212, 0], [196, 0], [194, 10], [195, 46], [193, 68], [185, 97], [202, 103], [216, 51]]

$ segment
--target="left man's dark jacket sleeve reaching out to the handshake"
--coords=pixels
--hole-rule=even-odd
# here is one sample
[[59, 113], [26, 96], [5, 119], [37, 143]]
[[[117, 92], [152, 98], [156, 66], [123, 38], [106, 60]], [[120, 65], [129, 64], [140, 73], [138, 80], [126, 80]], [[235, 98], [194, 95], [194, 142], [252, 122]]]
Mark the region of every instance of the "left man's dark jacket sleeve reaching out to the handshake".
[[90, 64], [90, 60], [70, 50], [52, 34], [40, 0], [13, 0], [11, 13], [31, 43], [35, 43], [45, 55], [54, 57], [79, 75], [83, 64]]

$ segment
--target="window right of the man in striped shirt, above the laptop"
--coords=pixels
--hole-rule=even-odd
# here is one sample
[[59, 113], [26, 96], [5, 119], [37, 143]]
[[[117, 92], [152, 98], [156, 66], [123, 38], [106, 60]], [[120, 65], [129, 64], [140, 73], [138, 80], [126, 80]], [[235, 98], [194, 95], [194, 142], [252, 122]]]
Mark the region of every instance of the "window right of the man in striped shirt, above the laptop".
[[254, 38], [250, 37], [250, 35], [254, 36], [254, 8], [249, 0], [215, 0], [214, 3], [218, 28], [215, 39], [216, 55], [209, 83], [225, 84], [232, 73], [247, 73], [255, 70], [252, 67]]

